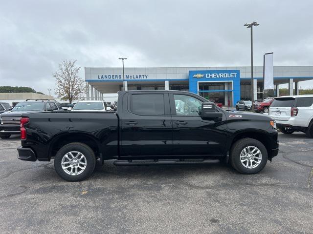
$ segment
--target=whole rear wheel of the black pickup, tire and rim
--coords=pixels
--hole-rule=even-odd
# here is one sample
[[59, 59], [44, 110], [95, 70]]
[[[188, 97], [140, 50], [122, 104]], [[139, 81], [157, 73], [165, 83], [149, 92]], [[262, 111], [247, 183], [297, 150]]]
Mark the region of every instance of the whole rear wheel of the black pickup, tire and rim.
[[81, 181], [94, 170], [96, 159], [92, 149], [83, 143], [74, 142], [63, 146], [54, 158], [54, 168], [67, 181]]

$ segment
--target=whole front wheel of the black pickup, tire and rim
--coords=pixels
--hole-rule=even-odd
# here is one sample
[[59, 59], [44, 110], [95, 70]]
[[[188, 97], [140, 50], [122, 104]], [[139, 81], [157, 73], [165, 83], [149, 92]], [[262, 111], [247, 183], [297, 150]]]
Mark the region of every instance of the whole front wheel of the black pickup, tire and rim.
[[230, 163], [242, 174], [261, 171], [268, 161], [268, 152], [258, 140], [243, 138], [236, 141], [230, 150]]

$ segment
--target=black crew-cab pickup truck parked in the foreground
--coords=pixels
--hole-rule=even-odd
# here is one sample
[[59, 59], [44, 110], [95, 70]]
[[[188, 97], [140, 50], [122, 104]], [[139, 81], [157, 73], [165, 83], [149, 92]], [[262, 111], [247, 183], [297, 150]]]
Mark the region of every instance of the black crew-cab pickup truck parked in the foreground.
[[117, 112], [22, 115], [18, 158], [50, 161], [68, 181], [95, 164], [230, 162], [240, 173], [261, 171], [278, 154], [276, 123], [261, 114], [228, 112], [189, 92], [122, 91]]

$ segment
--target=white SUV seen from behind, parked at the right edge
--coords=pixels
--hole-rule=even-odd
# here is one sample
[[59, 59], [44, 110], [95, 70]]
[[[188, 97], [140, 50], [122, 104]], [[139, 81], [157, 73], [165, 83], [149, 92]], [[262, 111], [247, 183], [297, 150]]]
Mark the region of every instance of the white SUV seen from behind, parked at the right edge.
[[313, 95], [275, 98], [269, 107], [269, 115], [275, 118], [282, 133], [297, 131], [313, 137]]

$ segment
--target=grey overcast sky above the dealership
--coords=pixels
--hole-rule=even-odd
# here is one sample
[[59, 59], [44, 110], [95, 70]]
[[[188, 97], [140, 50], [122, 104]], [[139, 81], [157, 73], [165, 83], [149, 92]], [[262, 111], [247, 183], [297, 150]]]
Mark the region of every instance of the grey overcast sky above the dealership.
[[[0, 7], [0, 86], [48, 93], [62, 59], [84, 67], [313, 65], [312, 0], [7, 0]], [[300, 82], [313, 88], [313, 81]]]

